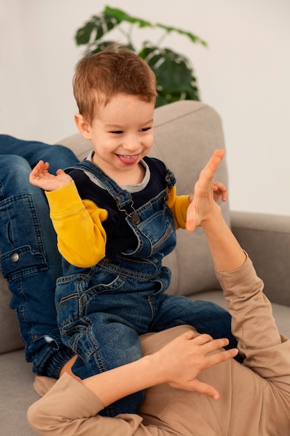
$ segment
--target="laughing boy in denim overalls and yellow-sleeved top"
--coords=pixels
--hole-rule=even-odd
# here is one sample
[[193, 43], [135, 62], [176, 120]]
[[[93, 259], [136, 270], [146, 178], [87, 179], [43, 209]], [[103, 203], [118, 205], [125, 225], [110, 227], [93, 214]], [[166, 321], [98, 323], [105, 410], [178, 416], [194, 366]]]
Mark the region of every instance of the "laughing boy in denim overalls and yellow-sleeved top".
[[[138, 335], [190, 324], [236, 341], [227, 311], [209, 302], [164, 294], [170, 271], [162, 259], [185, 227], [192, 196], [177, 196], [175, 178], [153, 143], [156, 79], [136, 54], [109, 47], [82, 59], [74, 76], [76, 126], [92, 143], [86, 161], [56, 176], [40, 161], [31, 183], [47, 191], [63, 255], [56, 286], [63, 341], [78, 355], [81, 379], [141, 357]], [[216, 183], [215, 197], [226, 198]], [[143, 392], [108, 406], [134, 413]]]

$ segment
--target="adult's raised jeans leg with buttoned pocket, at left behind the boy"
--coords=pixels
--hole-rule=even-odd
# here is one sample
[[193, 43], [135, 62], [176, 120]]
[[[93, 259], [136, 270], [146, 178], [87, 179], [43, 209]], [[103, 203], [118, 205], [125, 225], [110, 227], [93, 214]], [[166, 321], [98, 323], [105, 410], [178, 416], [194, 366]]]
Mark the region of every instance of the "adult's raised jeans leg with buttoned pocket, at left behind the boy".
[[61, 256], [42, 189], [29, 183], [31, 168], [43, 159], [50, 171], [78, 162], [71, 150], [0, 135], [1, 270], [17, 309], [20, 334], [33, 371], [58, 377], [73, 352], [61, 341], [54, 293], [62, 275]]

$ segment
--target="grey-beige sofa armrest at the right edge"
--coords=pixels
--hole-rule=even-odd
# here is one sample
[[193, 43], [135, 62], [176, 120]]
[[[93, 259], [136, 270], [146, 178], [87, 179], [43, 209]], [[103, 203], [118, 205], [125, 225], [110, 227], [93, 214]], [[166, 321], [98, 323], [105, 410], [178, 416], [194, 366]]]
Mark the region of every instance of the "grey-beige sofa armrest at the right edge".
[[290, 217], [231, 212], [231, 226], [264, 281], [267, 297], [290, 306]]

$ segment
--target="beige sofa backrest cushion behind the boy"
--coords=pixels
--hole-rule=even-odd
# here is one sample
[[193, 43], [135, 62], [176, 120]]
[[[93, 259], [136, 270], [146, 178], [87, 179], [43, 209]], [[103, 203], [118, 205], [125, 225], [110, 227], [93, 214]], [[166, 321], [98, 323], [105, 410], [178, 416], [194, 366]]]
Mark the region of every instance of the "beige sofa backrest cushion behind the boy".
[[[177, 193], [189, 194], [211, 153], [224, 148], [223, 128], [220, 117], [202, 102], [182, 101], [156, 109], [154, 115], [154, 146], [152, 156], [162, 159], [174, 171]], [[59, 143], [70, 147], [83, 159], [90, 152], [90, 142], [74, 134]], [[227, 168], [223, 160], [216, 180], [227, 185]], [[221, 205], [229, 221], [228, 204]], [[194, 233], [177, 231], [177, 247], [167, 256], [164, 264], [170, 267], [172, 283], [168, 293], [193, 295], [220, 288], [214, 274], [207, 242], [201, 228]], [[22, 348], [22, 339], [15, 311], [9, 309], [10, 291], [0, 274], [0, 352]]]

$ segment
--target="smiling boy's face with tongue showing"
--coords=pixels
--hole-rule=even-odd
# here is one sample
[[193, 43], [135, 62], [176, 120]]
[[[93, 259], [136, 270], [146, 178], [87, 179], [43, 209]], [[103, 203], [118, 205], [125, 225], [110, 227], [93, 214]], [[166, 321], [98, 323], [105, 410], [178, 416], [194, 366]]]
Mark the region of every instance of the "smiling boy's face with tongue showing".
[[92, 161], [119, 185], [140, 182], [134, 180], [140, 178], [140, 159], [152, 148], [153, 116], [154, 102], [118, 93], [88, 127], [95, 151]]

